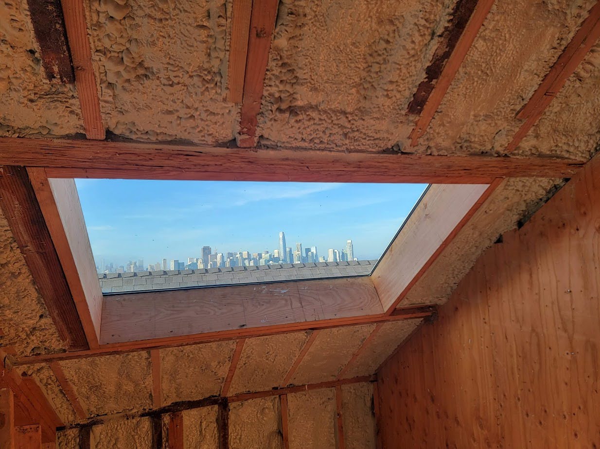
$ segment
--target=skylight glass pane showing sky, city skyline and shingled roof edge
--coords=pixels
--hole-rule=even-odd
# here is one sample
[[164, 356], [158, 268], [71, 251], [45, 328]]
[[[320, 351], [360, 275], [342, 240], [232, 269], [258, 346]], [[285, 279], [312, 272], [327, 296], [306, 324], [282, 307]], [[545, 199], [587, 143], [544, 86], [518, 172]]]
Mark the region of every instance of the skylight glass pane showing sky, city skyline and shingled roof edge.
[[76, 180], [105, 294], [370, 275], [427, 184]]

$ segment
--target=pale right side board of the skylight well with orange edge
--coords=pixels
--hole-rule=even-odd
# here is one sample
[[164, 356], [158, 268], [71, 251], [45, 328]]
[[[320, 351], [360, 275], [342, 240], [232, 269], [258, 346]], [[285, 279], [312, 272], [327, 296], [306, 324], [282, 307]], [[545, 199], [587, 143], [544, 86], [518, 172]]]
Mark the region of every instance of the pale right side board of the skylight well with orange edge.
[[386, 313], [392, 313], [440, 248], [475, 213], [487, 190], [483, 184], [430, 187], [371, 275]]

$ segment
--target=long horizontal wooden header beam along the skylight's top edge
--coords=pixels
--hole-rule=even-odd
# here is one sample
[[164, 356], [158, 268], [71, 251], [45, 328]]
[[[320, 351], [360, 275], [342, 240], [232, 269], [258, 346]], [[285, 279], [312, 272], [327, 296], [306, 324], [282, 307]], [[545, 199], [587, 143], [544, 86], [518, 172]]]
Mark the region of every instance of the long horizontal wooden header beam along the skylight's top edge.
[[489, 184], [569, 178], [584, 161], [4, 137], [1, 164], [47, 167], [50, 178]]

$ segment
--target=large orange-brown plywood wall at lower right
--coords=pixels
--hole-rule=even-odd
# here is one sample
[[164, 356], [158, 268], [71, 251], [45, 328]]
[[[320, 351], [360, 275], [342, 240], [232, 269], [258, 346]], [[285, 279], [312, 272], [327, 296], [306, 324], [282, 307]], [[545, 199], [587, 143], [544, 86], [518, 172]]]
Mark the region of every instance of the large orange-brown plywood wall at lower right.
[[600, 447], [600, 158], [378, 373], [383, 448]]

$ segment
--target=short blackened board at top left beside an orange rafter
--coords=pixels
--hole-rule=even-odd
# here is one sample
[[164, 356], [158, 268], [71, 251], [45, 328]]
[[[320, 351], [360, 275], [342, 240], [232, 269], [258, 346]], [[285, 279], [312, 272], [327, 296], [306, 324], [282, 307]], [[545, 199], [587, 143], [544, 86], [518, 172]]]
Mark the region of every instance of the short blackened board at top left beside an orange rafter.
[[35, 40], [49, 81], [73, 84], [73, 66], [60, 0], [27, 0]]

